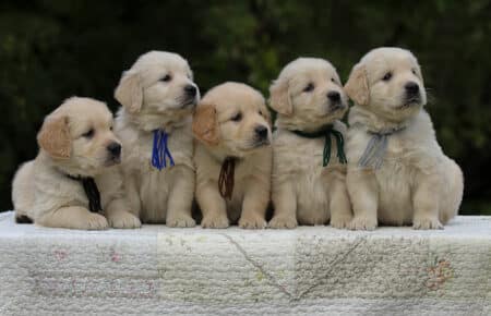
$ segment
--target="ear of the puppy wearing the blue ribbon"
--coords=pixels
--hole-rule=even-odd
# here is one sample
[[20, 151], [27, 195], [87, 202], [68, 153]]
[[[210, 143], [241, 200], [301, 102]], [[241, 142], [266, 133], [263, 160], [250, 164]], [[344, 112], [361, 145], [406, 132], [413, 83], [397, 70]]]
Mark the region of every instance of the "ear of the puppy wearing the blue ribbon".
[[115, 98], [130, 113], [139, 112], [143, 102], [143, 87], [140, 74], [125, 72], [115, 90]]

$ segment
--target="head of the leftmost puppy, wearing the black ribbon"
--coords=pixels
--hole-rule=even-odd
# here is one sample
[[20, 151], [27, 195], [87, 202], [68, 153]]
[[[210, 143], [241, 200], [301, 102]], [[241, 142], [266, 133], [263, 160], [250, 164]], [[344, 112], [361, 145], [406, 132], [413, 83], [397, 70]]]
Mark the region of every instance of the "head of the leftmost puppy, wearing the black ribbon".
[[105, 104], [89, 98], [67, 99], [46, 117], [37, 142], [57, 165], [81, 175], [97, 174], [121, 161], [112, 114]]

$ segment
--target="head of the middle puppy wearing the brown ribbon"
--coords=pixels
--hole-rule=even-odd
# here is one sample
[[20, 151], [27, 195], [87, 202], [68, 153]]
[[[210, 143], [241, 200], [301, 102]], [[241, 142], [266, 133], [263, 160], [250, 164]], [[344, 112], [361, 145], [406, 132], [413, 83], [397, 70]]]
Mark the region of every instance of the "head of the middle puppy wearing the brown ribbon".
[[270, 112], [261, 93], [240, 83], [212, 88], [193, 117], [194, 136], [227, 155], [243, 157], [271, 144]]

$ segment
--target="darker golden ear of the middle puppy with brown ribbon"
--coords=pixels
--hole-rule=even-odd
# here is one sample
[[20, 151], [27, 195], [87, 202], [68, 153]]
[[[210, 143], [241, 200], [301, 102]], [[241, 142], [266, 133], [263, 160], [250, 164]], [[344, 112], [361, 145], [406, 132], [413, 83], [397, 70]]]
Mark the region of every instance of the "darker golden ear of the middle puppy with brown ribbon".
[[193, 134], [208, 146], [218, 145], [218, 121], [215, 106], [202, 104], [196, 107], [193, 116]]

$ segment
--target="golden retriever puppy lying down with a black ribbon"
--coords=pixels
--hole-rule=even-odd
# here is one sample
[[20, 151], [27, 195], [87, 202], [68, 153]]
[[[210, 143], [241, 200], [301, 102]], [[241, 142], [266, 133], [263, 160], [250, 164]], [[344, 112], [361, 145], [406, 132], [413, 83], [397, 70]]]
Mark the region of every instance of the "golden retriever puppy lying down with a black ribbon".
[[121, 144], [106, 105], [72, 97], [46, 117], [37, 135], [40, 150], [14, 177], [17, 221], [45, 227], [105, 229], [101, 215], [128, 211], [122, 182], [113, 169]]

